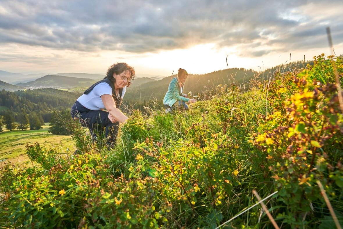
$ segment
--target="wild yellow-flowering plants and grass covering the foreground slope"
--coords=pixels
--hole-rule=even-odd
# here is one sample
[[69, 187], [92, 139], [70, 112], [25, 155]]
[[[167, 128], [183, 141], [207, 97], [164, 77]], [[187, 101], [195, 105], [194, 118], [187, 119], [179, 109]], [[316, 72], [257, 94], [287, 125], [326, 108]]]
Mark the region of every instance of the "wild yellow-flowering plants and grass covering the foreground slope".
[[[33, 167], [1, 169], [0, 227], [216, 228], [256, 203], [253, 189], [278, 191], [264, 203], [279, 226], [330, 227], [317, 180], [342, 223], [342, 59], [319, 55], [248, 91], [219, 85], [187, 112], [132, 111], [111, 150], [80, 125], [83, 154], [28, 145]], [[273, 228], [260, 206], [224, 227]]]

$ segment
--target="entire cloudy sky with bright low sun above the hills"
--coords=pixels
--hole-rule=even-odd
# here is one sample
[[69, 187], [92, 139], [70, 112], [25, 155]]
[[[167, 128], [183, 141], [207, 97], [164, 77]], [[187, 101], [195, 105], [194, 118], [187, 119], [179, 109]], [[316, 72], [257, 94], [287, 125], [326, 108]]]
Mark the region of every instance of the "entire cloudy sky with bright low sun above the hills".
[[263, 70], [331, 55], [327, 26], [343, 54], [342, 9], [342, 0], [0, 0], [0, 70]]

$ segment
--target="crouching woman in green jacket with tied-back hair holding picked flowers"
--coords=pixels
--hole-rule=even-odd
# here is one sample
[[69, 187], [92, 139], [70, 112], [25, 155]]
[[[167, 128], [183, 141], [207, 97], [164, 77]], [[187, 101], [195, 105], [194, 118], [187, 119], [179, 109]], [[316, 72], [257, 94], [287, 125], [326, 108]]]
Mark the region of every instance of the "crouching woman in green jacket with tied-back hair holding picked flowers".
[[187, 71], [180, 68], [177, 77], [173, 78], [169, 83], [168, 91], [163, 99], [167, 113], [177, 108], [188, 110], [186, 103], [195, 103], [197, 101], [196, 99], [187, 98], [187, 94], [183, 93], [187, 77]]

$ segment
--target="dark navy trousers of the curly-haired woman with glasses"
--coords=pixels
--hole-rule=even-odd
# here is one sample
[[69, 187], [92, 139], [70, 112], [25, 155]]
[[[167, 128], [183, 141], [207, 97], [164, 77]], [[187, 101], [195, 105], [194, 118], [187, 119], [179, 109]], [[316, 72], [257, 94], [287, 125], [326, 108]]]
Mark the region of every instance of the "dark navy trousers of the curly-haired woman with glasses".
[[115, 144], [119, 130], [119, 122], [112, 123], [108, 118], [108, 112], [89, 110], [81, 105], [79, 101], [76, 101], [71, 107], [70, 114], [73, 118], [79, 118], [82, 126], [88, 127], [94, 141], [97, 138], [94, 130], [97, 130], [98, 135], [102, 135], [105, 130], [105, 137], [107, 138], [106, 144], [108, 146]]

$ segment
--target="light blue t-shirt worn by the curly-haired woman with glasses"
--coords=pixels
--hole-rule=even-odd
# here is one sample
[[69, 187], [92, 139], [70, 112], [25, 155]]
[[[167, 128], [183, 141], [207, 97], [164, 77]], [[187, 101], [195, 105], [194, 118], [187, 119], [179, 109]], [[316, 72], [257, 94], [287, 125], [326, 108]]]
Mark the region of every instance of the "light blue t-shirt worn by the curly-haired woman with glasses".
[[[126, 87], [123, 88], [121, 93], [121, 98], [124, 97], [124, 94], [126, 92]], [[97, 84], [92, 91], [88, 94], [82, 94], [77, 101], [81, 103], [84, 107], [93, 110], [93, 111], [99, 111], [104, 110], [105, 105], [100, 98], [102, 95], [112, 95], [112, 88], [107, 83], [99, 83]]]

